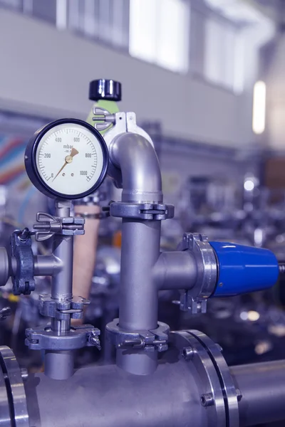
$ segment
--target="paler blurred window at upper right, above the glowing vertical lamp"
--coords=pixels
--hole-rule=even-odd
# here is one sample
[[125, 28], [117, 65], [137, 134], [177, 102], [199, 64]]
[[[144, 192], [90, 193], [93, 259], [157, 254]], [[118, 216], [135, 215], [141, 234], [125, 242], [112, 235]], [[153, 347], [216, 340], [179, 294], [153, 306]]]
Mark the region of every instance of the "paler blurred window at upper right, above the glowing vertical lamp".
[[205, 22], [204, 77], [234, 90], [238, 31], [231, 23], [210, 16]]

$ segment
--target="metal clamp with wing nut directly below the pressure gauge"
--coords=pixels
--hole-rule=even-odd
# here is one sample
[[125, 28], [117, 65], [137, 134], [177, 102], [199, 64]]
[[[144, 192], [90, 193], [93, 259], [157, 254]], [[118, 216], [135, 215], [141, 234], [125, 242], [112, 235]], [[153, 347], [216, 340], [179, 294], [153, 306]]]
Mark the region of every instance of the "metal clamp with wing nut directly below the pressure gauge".
[[55, 234], [60, 236], [77, 236], [83, 235], [84, 231], [84, 218], [78, 216], [68, 216], [67, 218], [60, 218], [46, 214], [46, 212], [38, 212], [36, 214], [37, 223], [33, 226], [36, 230], [36, 241], [45, 241]]

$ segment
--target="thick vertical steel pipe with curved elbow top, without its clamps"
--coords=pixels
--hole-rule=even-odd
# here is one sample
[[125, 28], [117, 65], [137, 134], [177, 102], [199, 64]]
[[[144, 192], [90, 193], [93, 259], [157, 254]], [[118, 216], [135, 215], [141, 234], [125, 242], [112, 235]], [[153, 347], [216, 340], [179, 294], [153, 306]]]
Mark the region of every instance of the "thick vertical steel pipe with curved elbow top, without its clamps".
[[[147, 139], [133, 133], [119, 135], [110, 146], [110, 159], [122, 174], [122, 201], [162, 202], [160, 165]], [[160, 221], [123, 218], [119, 325], [124, 330], [157, 328], [152, 268], [159, 255]], [[151, 374], [157, 367], [157, 352], [118, 350], [117, 364], [131, 373]]]

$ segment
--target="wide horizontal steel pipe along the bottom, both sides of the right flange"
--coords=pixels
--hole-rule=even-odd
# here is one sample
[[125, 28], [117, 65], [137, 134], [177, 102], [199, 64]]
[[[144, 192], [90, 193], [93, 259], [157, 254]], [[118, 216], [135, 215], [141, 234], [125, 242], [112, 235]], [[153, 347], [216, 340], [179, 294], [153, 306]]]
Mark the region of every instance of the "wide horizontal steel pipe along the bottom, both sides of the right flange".
[[[25, 383], [33, 427], [219, 427], [201, 404], [192, 362], [162, 363], [151, 376], [115, 365], [83, 368], [66, 381], [43, 374]], [[207, 367], [205, 367], [207, 369]], [[239, 426], [285, 420], [285, 361], [230, 369], [239, 387]], [[203, 375], [203, 374], [202, 374]]]

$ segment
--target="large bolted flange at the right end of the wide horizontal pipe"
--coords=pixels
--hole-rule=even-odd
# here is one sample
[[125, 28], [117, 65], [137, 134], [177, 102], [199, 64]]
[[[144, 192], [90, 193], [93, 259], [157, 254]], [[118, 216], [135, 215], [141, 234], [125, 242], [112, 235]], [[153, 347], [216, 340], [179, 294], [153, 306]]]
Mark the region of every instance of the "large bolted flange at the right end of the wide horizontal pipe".
[[239, 427], [239, 391], [217, 344], [192, 330], [171, 332], [170, 342], [180, 350], [187, 367], [199, 375], [197, 384], [201, 405], [207, 408], [207, 426]]

